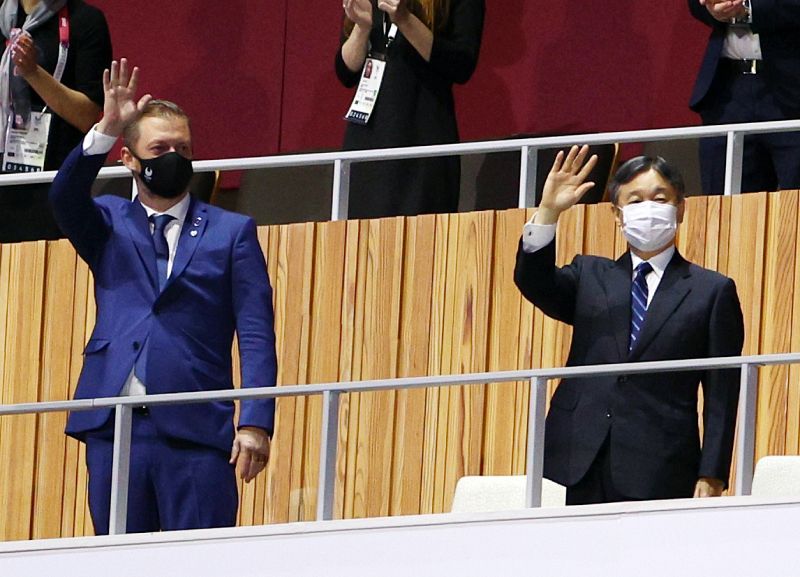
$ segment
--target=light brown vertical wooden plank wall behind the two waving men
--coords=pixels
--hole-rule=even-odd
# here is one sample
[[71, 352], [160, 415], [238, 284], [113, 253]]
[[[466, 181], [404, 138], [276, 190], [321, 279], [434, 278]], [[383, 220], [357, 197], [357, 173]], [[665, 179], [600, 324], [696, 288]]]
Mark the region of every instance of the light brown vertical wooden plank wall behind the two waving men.
[[[687, 200], [679, 250], [730, 275], [746, 352], [800, 351], [800, 193]], [[563, 365], [570, 329], [513, 283], [533, 211], [262, 228], [279, 385]], [[559, 225], [557, 258], [615, 258], [608, 205]], [[2, 402], [71, 395], [94, 325], [92, 280], [65, 241], [0, 246]], [[762, 369], [757, 456], [800, 452], [800, 368]], [[550, 383], [552, 391], [555, 382]], [[446, 511], [462, 474], [525, 470], [528, 383], [343, 395], [337, 517]], [[92, 533], [81, 444], [65, 415], [0, 420], [1, 538]], [[314, 518], [320, 400], [278, 403], [267, 474], [242, 487], [240, 523]], [[23, 450], [20, 450], [20, 447]]]

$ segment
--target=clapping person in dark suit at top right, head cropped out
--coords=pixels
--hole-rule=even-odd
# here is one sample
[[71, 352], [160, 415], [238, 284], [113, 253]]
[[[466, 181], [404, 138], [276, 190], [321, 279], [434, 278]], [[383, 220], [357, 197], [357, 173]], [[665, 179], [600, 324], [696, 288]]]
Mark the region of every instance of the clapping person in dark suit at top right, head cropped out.
[[[800, 118], [800, 0], [688, 0], [711, 27], [689, 106], [703, 124]], [[745, 137], [742, 191], [800, 188], [800, 132]], [[726, 139], [700, 141], [705, 194], [722, 194]]]

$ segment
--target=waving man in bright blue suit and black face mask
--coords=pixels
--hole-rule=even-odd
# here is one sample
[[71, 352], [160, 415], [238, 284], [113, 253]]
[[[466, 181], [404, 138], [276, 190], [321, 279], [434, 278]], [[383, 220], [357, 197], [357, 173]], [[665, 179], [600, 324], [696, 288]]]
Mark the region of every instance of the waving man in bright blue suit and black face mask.
[[[62, 230], [94, 275], [97, 320], [76, 398], [230, 389], [238, 337], [242, 384], [273, 386], [272, 290], [251, 218], [189, 195], [192, 138], [175, 104], [136, 100], [138, 69], [122, 59], [103, 77], [102, 120], [59, 170], [50, 192]], [[93, 200], [91, 185], [119, 136], [134, 175], [133, 202]], [[232, 526], [236, 473], [266, 466], [274, 401], [134, 410], [128, 531]], [[86, 442], [95, 532], [108, 532], [113, 414], [70, 415]]]

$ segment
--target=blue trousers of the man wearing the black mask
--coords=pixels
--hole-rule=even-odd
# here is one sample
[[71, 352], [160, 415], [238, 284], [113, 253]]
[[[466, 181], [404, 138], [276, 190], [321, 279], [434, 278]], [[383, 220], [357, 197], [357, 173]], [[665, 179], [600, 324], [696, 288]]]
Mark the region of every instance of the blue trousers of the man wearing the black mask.
[[[86, 440], [89, 510], [95, 533], [108, 534], [113, 439]], [[147, 415], [134, 414], [127, 532], [232, 527], [239, 495], [229, 455], [159, 435]]]

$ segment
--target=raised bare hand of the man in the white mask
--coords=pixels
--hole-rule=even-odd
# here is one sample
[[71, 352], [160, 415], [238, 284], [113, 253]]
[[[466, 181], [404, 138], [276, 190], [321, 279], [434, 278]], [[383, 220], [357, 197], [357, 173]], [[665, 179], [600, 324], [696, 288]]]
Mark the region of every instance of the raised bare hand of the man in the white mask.
[[537, 224], [553, 224], [558, 216], [577, 203], [594, 182], [584, 182], [597, 164], [594, 154], [587, 161], [589, 147], [573, 146], [565, 155], [560, 150], [553, 161], [542, 190], [542, 201], [536, 213]]

